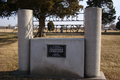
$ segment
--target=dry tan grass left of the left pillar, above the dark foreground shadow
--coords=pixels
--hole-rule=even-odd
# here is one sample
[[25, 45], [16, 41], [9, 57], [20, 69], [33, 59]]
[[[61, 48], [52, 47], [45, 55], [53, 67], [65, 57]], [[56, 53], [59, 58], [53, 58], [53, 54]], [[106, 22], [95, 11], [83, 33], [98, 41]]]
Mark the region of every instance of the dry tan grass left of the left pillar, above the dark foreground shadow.
[[0, 71], [12, 71], [18, 68], [17, 35], [0, 33]]

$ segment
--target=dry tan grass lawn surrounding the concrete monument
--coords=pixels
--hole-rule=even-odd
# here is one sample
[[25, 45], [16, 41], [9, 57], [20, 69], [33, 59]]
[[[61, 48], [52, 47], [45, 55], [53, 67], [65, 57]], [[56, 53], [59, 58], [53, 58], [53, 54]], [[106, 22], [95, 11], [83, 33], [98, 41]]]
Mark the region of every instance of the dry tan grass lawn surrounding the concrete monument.
[[[83, 38], [81, 35], [47, 35], [47, 38]], [[0, 80], [61, 80], [11, 76], [18, 69], [18, 40], [12, 32], [0, 32]], [[107, 80], [120, 80], [120, 31], [102, 34], [101, 71]], [[64, 79], [65, 80], [65, 79]]]

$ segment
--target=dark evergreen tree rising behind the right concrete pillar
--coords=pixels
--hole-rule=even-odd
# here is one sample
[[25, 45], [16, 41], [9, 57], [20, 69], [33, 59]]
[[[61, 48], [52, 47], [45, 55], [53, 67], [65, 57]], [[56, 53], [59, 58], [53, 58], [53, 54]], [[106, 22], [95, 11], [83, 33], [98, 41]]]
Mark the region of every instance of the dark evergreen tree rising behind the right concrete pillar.
[[87, 7], [102, 8], [102, 24], [104, 25], [113, 23], [116, 19], [116, 11], [112, 0], [88, 0], [87, 5]]

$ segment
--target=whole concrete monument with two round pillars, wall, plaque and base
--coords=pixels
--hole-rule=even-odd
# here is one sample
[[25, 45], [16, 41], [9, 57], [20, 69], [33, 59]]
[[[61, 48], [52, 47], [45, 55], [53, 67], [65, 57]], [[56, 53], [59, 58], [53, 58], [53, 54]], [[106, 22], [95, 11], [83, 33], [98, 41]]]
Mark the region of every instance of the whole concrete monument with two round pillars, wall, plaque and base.
[[33, 38], [33, 11], [18, 11], [19, 73], [106, 80], [100, 71], [101, 8], [86, 8], [85, 38]]

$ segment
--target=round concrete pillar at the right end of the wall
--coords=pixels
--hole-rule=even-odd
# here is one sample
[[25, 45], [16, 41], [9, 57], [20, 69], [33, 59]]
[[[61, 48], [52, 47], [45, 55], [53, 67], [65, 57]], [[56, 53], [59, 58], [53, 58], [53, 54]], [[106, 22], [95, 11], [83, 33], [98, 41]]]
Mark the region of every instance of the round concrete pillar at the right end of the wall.
[[85, 76], [100, 76], [101, 54], [101, 8], [86, 8], [85, 10]]

